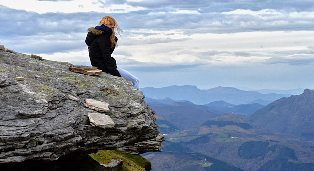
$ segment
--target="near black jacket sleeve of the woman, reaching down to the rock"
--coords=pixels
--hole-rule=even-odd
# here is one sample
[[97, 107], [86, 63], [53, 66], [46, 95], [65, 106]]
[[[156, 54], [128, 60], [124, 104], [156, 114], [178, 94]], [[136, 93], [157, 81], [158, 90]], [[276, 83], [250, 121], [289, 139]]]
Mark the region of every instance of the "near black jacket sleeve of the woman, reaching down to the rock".
[[117, 70], [116, 63], [114, 59], [111, 57], [110, 39], [105, 36], [103, 38], [98, 39], [98, 41], [99, 48], [105, 61], [105, 65], [109, 70], [109, 73], [111, 75], [121, 77], [119, 71]]

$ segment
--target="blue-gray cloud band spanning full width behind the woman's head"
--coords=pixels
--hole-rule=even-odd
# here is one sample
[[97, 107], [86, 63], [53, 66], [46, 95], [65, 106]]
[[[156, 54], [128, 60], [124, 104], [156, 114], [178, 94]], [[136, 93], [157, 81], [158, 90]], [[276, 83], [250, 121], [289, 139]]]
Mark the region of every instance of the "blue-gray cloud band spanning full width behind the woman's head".
[[[3, 30], [0, 34], [5, 36], [35, 35], [37, 33], [47, 32], [85, 32], [87, 28], [97, 25], [99, 20], [105, 15], [113, 15], [113, 17], [117, 19], [120, 27], [124, 30], [181, 29], [186, 34], [208, 32], [231, 33], [245, 31], [314, 30], [313, 18], [293, 18], [289, 17], [285, 12], [282, 16], [263, 15], [261, 18], [261, 16], [252, 16], [249, 14], [174, 14], [169, 13], [169, 10], [171, 9], [173, 10], [171, 7], [166, 8], [165, 10], [140, 10], [129, 12], [128, 14], [106, 14], [96, 12], [38, 14], [35, 12], [26, 12], [24, 10], [10, 9], [0, 5], [0, 29]], [[159, 11], [165, 11], [165, 13], [154, 13]]]

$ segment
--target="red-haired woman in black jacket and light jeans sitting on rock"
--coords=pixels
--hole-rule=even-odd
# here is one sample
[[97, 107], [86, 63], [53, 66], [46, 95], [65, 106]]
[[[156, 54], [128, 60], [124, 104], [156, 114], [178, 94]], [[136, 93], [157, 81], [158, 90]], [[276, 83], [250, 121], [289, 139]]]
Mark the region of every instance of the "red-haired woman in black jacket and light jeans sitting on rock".
[[139, 88], [139, 80], [128, 71], [118, 68], [116, 60], [111, 57], [118, 41], [114, 28], [120, 35], [122, 30], [116, 20], [110, 16], [103, 17], [99, 26], [88, 28], [85, 43], [88, 46], [90, 62], [92, 66], [97, 66], [108, 74], [131, 80], [133, 86]]

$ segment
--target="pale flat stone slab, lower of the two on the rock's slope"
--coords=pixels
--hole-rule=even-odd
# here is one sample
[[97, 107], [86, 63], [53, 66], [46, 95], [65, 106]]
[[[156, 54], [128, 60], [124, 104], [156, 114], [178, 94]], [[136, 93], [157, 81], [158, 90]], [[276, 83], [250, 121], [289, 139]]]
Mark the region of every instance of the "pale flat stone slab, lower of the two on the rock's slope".
[[113, 128], [114, 122], [110, 116], [101, 113], [88, 113], [88, 118], [92, 126], [100, 128]]

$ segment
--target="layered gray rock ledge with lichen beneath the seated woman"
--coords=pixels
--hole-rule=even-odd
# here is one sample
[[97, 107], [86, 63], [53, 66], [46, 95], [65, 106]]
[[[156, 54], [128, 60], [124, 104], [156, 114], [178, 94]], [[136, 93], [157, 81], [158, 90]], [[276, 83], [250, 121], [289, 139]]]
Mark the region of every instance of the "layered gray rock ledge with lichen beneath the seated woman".
[[[131, 81], [83, 75], [68, 66], [0, 51], [0, 164], [86, 156], [159, 135], [151, 108]], [[87, 114], [95, 111], [84, 106], [86, 99], [109, 104], [110, 112], [99, 113], [113, 120], [113, 128], [90, 124]]]

